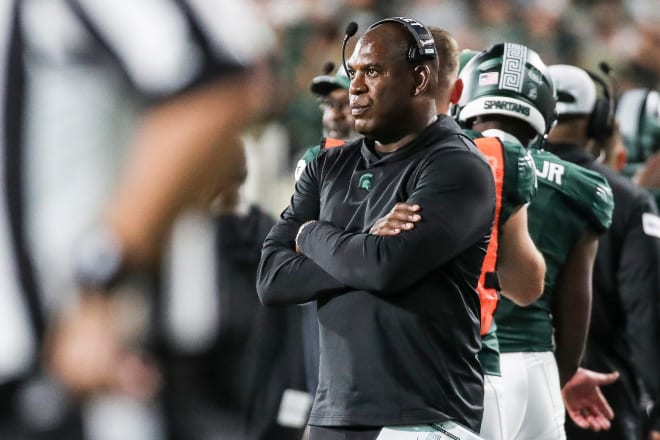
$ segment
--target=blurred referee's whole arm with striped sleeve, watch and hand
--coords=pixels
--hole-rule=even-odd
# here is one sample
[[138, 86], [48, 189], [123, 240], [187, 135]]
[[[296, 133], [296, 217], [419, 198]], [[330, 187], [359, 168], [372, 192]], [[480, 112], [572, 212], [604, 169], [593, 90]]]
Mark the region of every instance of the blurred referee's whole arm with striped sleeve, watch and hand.
[[[264, 82], [255, 78], [264, 72], [257, 68], [263, 54], [259, 44], [251, 44], [255, 50], [245, 47], [240, 62], [229, 58], [224, 49], [240, 38], [229, 42], [224, 41], [226, 35], [203, 31], [184, 35], [188, 29], [198, 29], [186, 26], [187, 19], [195, 18], [179, 14], [181, 5], [152, 2], [148, 7], [136, 7], [136, 2], [113, 2], [112, 16], [120, 17], [123, 24], [117, 27], [116, 20], [108, 20], [107, 5], [101, 3], [77, 2], [72, 11], [111, 52], [111, 58], [119, 61], [136, 91], [154, 104], [144, 113], [128, 145], [130, 153], [120, 184], [93, 234], [104, 240], [91, 246], [94, 240], [83, 237], [83, 249], [77, 251], [77, 263], [87, 262], [78, 264], [77, 277], [90, 295], [81, 299], [76, 310], [68, 310], [56, 320], [47, 338], [46, 351], [55, 372], [63, 383], [79, 391], [113, 386], [119, 376], [132, 375], [126, 374], [126, 362], [122, 362], [132, 347], [126, 347], [115, 331], [117, 298], [96, 293], [112, 291], [112, 282], [124, 273], [139, 272], [155, 263], [181, 209], [204, 202], [224, 184], [226, 170], [237, 164], [238, 135], [260, 108], [257, 87]], [[217, 13], [217, 4], [205, 7], [213, 9], [204, 15], [211, 20], [232, 20], [235, 13], [249, 16], [224, 3], [223, 14]], [[166, 20], [168, 25], [142, 19], [163, 13], [172, 19]], [[256, 19], [252, 24], [267, 29]], [[126, 38], [131, 32], [146, 36], [140, 40], [145, 44]], [[163, 41], [184, 50], [162, 51]], [[213, 52], [208, 64], [199, 63], [199, 69], [189, 62], [190, 53], [204, 52], [197, 44], [202, 49], [212, 46]], [[95, 258], [109, 255], [112, 264], [94, 264]]]

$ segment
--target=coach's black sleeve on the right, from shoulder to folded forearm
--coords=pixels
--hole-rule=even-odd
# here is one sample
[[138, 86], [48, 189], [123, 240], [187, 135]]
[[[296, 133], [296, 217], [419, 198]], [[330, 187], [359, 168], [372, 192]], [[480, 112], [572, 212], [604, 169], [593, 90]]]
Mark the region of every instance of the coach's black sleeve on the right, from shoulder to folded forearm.
[[315, 222], [298, 244], [341, 283], [394, 293], [478, 243], [492, 226], [494, 194], [492, 172], [480, 157], [446, 151], [428, 159], [406, 200], [421, 206], [413, 230], [376, 236]]

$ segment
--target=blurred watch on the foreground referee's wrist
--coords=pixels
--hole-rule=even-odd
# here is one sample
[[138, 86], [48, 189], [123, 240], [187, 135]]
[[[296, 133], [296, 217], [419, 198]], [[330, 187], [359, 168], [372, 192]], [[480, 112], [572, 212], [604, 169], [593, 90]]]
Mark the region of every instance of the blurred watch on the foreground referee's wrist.
[[108, 287], [116, 281], [121, 269], [121, 247], [110, 230], [96, 228], [83, 235], [74, 256], [74, 271], [78, 282], [94, 287]]

